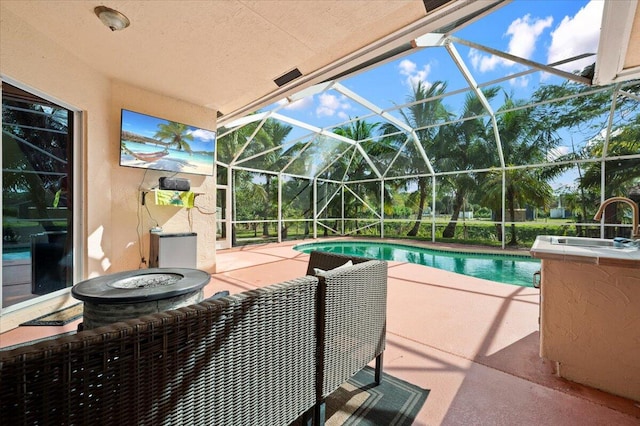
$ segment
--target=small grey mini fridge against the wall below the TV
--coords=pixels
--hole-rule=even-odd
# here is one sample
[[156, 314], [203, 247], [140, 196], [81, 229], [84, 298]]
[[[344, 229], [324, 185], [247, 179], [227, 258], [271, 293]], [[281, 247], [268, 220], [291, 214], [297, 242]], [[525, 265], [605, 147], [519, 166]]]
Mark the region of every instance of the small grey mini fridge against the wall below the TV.
[[196, 268], [197, 234], [152, 232], [149, 247], [150, 268]]

